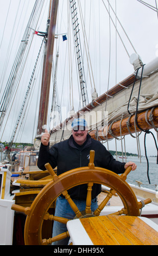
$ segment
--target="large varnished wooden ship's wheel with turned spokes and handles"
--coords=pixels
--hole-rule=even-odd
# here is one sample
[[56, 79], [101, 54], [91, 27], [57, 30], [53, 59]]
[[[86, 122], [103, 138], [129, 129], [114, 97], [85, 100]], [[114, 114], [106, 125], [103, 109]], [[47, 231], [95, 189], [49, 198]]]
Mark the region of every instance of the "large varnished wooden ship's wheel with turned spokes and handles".
[[[69, 236], [68, 231], [50, 239], [43, 239], [41, 235], [44, 220], [59, 221], [65, 224], [68, 222], [67, 218], [48, 214], [50, 206], [61, 194], [68, 200], [68, 203], [71, 205], [71, 208], [75, 212], [77, 218], [98, 216], [110, 198], [115, 194], [121, 198], [124, 208], [112, 215], [140, 215], [140, 209], [142, 208], [143, 203], [137, 202], [134, 192], [125, 181], [127, 179], [127, 175], [131, 171], [131, 167], [128, 167], [124, 174], [119, 176], [108, 169], [94, 167], [93, 160], [94, 151], [91, 150], [90, 163], [88, 167], [72, 169], [59, 176], [54, 173], [50, 164], [47, 163], [46, 168], [52, 176], [52, 180], [43, 187], [39, 194], [37, 194], [30, 208], [24, 208], [15, 204], [12, 205], [12, 210], [20, 211], [27, 215], [24, 227], [24, 242], [26, 245], [49, 245], [54, 241], [58, 241]], [[94, 183], [108, 186], [110, 188], [110, 192], [102, 203], [100, 203], [98, 209], [91, 212], [91, 191]], [[67, 192], [70, 188], [81, 184], [87, 184], [86, 208], [84, 214], [78, 210], [77, 205], [74, 204]], [[147, 199], [144, 201], [144, 204], [150, 202], [151, 200]]]

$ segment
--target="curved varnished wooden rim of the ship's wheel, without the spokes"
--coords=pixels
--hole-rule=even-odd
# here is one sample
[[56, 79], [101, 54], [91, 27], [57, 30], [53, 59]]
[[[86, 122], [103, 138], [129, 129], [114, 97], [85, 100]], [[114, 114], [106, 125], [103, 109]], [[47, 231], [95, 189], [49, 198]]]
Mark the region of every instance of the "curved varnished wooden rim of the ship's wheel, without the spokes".
[[[24, 240], [26, 245], [41, 245], [44, 243], [41, 237], [42, 223], [47, 214], [50, 205], [64, 191], [81, 184], [89, 182], [102, 184], [115, 190], [121, 198], [127, 215], [138, 216], [140, 213], [136, 196], [131, 187], [121, 176], [110, 170], [94, 167], [82, 167], [70, 170], [58, 176], [55, 181], [50, 181], [37, 195], [30, 207], [30, 213], [27, 216]], [[53, 195], [53, 196], [52, 196]], [[52, 240], [49, 241], [51, 243]], [[46, 242], [46, 241], [45, 241]], [[47, 240], [48, 242], [48, 240]]]

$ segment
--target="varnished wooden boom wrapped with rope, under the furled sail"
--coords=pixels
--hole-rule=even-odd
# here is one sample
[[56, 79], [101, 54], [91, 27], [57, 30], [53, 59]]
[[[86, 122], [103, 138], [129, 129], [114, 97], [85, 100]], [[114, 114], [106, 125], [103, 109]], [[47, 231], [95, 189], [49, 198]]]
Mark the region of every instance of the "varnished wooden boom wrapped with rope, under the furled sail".
[[[148, 111], [148, 113], [146, 113], [146, 111], [143, 111], [137, 114], [138, 126], [140, 126], [141, 129], [143, 130], [152, 129], [152, 127], [146, 121], [146, 114], [147, 114], [147, 120], [149, 120], [150, 112], [151, 112], [151, 109]], [[93, 130], [89, 134], [93, 139], [98, 139], [99, 141], [105, 141], [106, 139], [111, 139], [113, 137], [128, 135], [130, 132], [135, 133], [135, 115], [132, 115], [132, 117], [130, 118], [130, 121], [128, 119], [129, 118], [125, 118], [122, 121], [121, 120], [116, 121], [112, 125], [109, 124], [108, 127], [103, 126], [101, 129], [98, 130], [98, 132], [96, 130]], [[129, 121], [130, 132], [127, 126], [128, 121]], [[158, 127], [158, 107], [155, 107], [153, 111], [153, 123], [157, 128]], [[121, 126], [121, 131], [120, 131], [120, 126]], [[136, 126], [136, 131], [141, 131], [141, 130]]]

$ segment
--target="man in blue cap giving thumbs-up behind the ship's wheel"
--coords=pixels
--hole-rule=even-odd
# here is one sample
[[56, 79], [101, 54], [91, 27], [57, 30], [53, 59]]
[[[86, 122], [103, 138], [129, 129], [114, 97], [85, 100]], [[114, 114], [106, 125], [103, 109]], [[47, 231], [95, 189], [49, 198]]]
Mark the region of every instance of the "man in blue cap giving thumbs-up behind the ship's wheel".
[[[68, 170], [85, 167], [89, 164], [90, 150], [95, 150], [94, 166], [109, 169], [117, 174], [124, 173], [128, 166], [132, 170], [137, 168], [134, 162], [122, 163], [116, 161], [102, 143], [91, 138], [88, 134], [87, 122], [85, 119], [74, 119], [72, 123], [72, 135], [66, 141], [56, 143], [49, 149], [50, 134], [47, 130], [41, 138], [41, 146], [38, 159], [38, 167], [46, 170], [45, 164], [50, 163], [52, 168], [57, 166], [57, 175]], [[101, 192], [100, 184], [93, 184], [91, 211], [98, 208], [97, 196]], [[79, 185], [68, 190], [69, 195], [80, 211], [85, 210], [87, 185]], [[64, 196], [56, 199], [55, 216], [65, 217], [69, 220], [75, 217], [74, 211]], [[66, 224], [54, 221], [53, 237], [67, 231]], [[69, 237], [56, 241], [54, 245], [67, 245]]]

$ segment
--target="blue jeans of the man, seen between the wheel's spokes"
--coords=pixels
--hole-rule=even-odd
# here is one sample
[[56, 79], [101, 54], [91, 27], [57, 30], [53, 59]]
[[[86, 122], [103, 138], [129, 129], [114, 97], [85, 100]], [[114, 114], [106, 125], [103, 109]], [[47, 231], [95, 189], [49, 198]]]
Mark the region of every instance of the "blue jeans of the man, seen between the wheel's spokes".
[[[86, 201], [75, 200], [73, 202], [77, 205], [79, 211], [84, 211], [86, 208]], [[91, 211], [94, 212], [98, 208], [97, 198], [92, 199], [91, 202]], [[73, 220], [75, 217], [75, 213], [72, 210], [71, 206], [67, 202], [67, 200], [63, 197], [58, 197], [56, 199], [56, 208], [55, 208], [55, 216], [68, 218], [68, 220]], [[53, 237], [64, 233], [67, 231], [66, 224], [60, 223], [58, 221], [54, 221], [53, 224]], [[68, 245], [69, 237], [66, 239], [62, 239], [56, 242], [53, 242], [52, 245]]]

